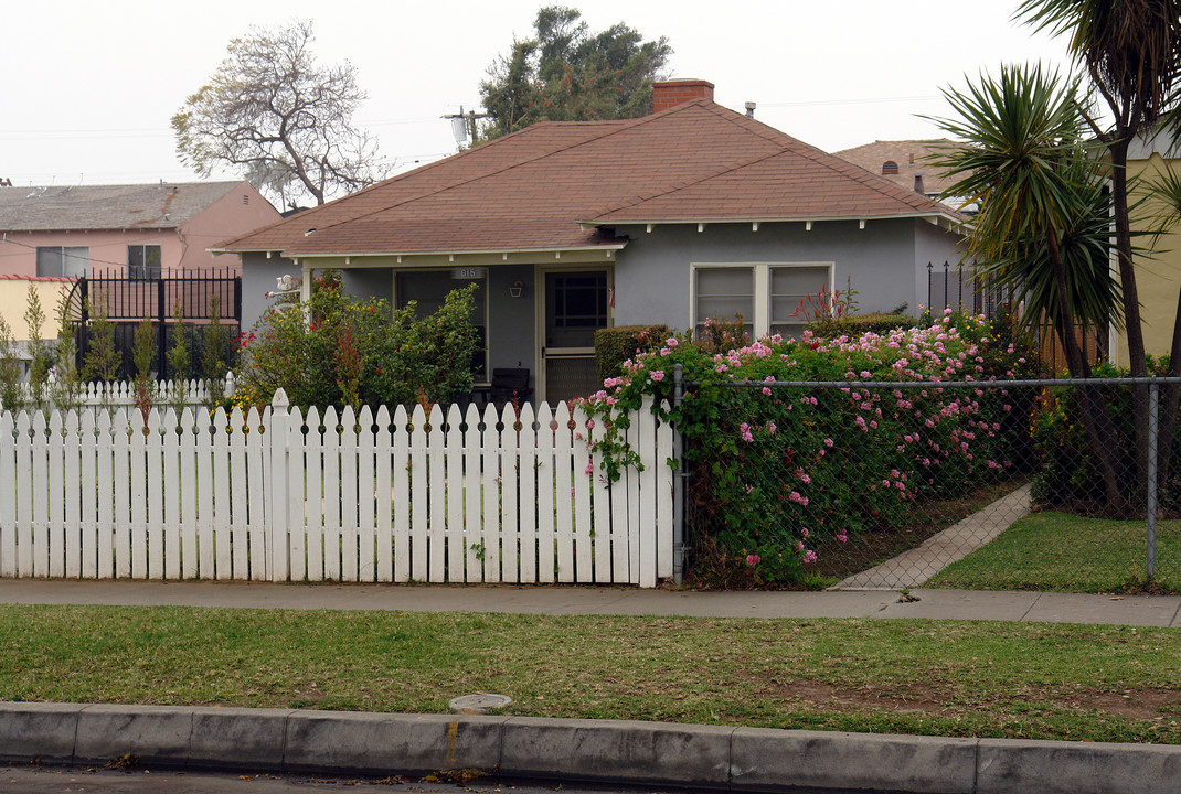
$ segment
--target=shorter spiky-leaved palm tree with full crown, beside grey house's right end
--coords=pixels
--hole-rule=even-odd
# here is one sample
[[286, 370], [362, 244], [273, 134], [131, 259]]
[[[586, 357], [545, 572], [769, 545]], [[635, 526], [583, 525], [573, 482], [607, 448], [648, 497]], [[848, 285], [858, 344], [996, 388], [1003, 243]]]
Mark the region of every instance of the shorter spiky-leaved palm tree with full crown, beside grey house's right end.
[[[947, 195], [979, 206], [967, 254], [979, 269], [1014, 287], [1027, 321], [1051, 321], [1074, 378], [1090, 376], [1075, 324], [1118, 317], [1108, 275], [1107, 199], [1097, 162], [1083, 143], [1078, 83], [1038, 67], [1004, 66], [965, 92], [945, 90], [957, 119], [933, 119], [959, 140], [933, 162], [959, 176]], [[1088, 441], [1109, 508], [1123, 512], [1118, 445], [1107, 405], [1079, 391]]]

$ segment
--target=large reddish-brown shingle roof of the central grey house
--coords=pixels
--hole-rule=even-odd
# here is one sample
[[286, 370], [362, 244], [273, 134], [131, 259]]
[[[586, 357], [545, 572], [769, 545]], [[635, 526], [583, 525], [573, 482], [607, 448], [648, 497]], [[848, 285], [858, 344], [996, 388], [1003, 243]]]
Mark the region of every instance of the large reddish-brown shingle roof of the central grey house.
[[220, 248], [291, 256], [549, 250], [618, 244], [609, 229], [618, 223], [924, 215], [952, 217], [698, 99], [624, 122], [535, 124]]

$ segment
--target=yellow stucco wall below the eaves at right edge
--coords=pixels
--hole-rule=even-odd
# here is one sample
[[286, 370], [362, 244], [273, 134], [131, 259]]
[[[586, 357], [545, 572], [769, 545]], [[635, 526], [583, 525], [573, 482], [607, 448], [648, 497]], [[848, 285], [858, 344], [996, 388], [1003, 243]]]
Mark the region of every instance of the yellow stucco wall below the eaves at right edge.
[[[1166, 160], [1153, 153], [1147, 160], [1128, 162], [1129, 183], [1134, 179], [1151, 179]], [[1177, 164], [1174, 162], [1174, 168]], [[1135, 197], [1129, 197], [1134, 203]], [[1159, 211], [1151, 202], [1144, 202], [1134, 210], [1133, 229], [1144, 228], [1147, 221]], [[1137, 224], [1137, 218], [1141, 223]], [[1141, 327], [1144, 334], [1144, 350], [1151, 355], [1163, 355], [1173, 343], [1173, 320], [1177, 310], [1177, 293], [1181, 291], [1181, 227], [1176, 227], [1160, 239], [1140, 237], [1131, 241], [1134, 247], [1150, 249], [1136, 257], [1136, 290], [1140, 295]], [[1118, 274], [1116, 274], [1118, 278]], [[1128, 335], [1113, 334], [1111, 362], [1127, 367]]]

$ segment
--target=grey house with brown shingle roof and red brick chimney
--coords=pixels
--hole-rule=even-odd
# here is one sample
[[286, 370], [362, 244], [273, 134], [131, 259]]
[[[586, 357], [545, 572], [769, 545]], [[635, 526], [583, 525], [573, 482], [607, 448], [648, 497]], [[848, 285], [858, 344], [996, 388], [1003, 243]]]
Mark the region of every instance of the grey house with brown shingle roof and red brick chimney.
[[653, 104], [535, 124], [220, 243], [242, 256], [243, 327], [286, 274], [305, 297], [337, 268], [426, 309], [475, 280], [487, 372], [528, 368], [553, 401], [600, 387], [599, 328], [740, 313], [795, 334], [801, 300], [847, 283], [862, 311], [915, 311], [928, 262], [958, 261], [964, 216], [715, 104], [712, 84], [657, 83]]

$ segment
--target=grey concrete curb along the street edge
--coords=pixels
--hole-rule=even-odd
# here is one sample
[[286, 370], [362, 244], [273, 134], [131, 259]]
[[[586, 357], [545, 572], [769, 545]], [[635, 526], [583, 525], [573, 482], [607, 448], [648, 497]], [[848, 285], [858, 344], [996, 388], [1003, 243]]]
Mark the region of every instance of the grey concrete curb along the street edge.
[[1181, 746], [612, 720], [0, 702], [0, 760], [502, 777], [732, 792], [1175, 794]]

